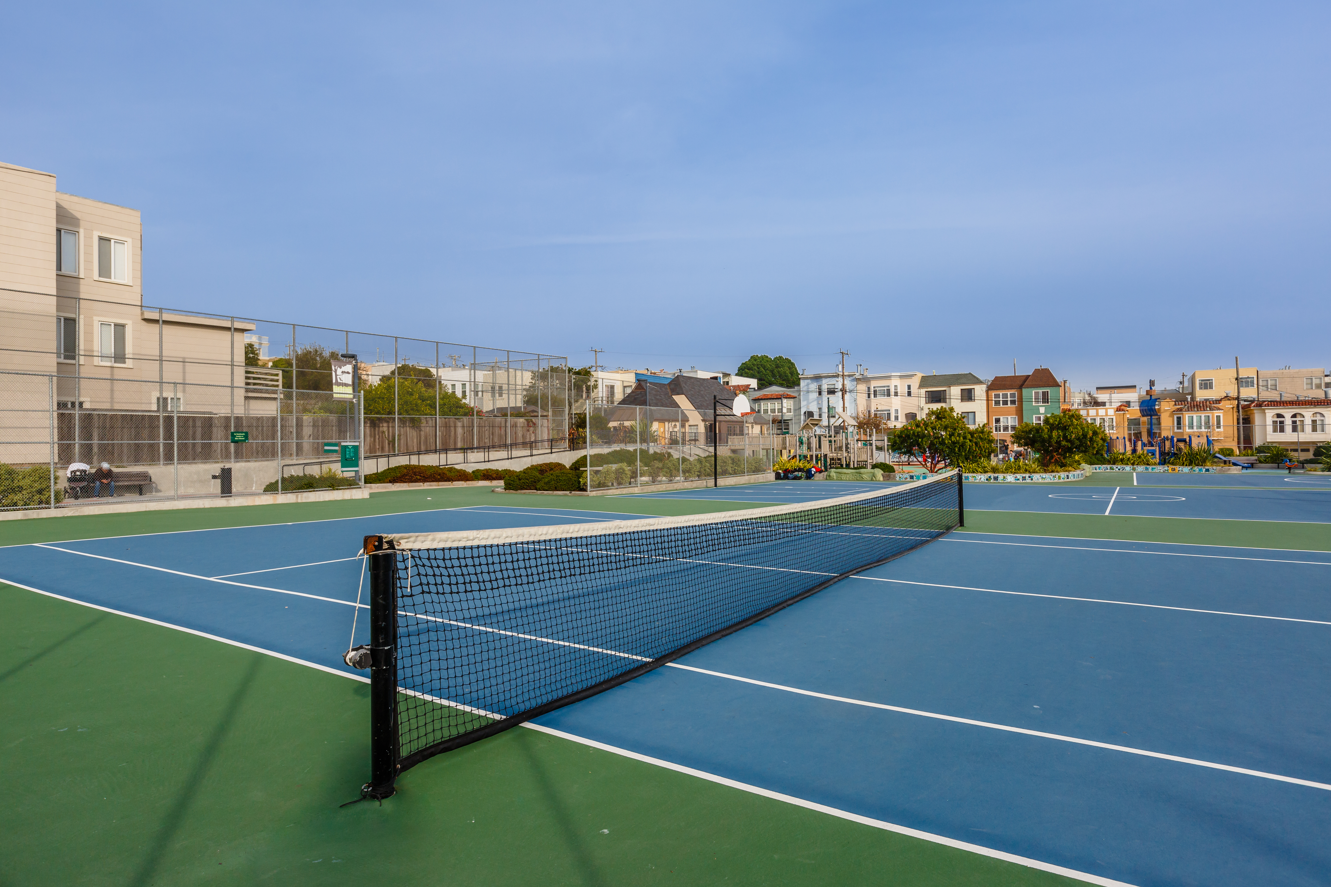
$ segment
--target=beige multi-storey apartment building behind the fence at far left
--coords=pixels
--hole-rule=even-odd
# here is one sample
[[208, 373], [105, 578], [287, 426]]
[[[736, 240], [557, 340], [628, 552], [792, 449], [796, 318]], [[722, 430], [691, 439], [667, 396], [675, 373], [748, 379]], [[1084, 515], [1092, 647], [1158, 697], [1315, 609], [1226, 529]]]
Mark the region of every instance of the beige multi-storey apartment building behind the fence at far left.
[[[208, 386], [244, 386], [254, 324], [144, 310], [142, 241], [138, 210], [0, 164], [0, 370], [59, 376], [64, 408], [232, 410]], [[188, 402], [172, 383], [189, 383]]]

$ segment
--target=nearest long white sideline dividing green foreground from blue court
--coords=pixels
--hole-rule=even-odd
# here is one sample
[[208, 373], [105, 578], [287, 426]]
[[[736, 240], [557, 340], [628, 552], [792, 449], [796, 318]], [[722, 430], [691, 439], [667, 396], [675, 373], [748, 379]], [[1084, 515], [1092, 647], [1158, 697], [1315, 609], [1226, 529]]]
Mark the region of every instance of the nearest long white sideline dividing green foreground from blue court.
[[[95, 610], [101, 610], [104, 613], [113, 613], [116, 616], [124, 616], [124, 617], [128, 617], [128, 618], [132, 618], [132, 620], [138, 620], [140, 622], [148, 622], [149, 625], [157, 625], [157, 626], [161, 626], [161, 628], [169, 628], [169, 629], [174, 629], [177, 632], [184, 632], [186, 634], [194, 634], [196, 637], [204, 637], [204, 638], [208, 638], [210, 641], [220, 641], [221, 644], [226, 644], [229, 646], [237, 646], [237, 648], [240, 648], [242, 650], [252, 650], [254, 653], [262, 653], [265, 656], [272, 656], [273, 658], [282, 660], [285, 662], [293, 662], [295, 665], [305, 665], [305, 666], [309, 666], [311, 669], [317, 669], [319, 672], [325, 672], [327, 674], [335, 674], [338, 677], [350, 678], [353, 681], [359, 681], [361, 684], [369, 684], [370, 682], [369, 677], [362, 677], [359, 674], [353, 674], [353, 673], [349, 673], [349, 672], [342, 672], [339, 669], [329, 668], [326, 665], [319, 665], [318, 662], [310, 662], [309, 660], [299, 660], [299, 658], [295, 658], [293, 656], [286, 656], [285, 653], [277, 653], [274, 650], [264, 649], [261, 646], [252, 646], [249, 644], [241, 644], [240, 641], [232, 641], [232, 640], [225, 638], [225, 637], [218, 637], [217, 634], [208, 634], [206, 632], [198, 632], [198, 630], [192, 629], [192, 628], [185, 628], [184, 625], [174, 625], [172, 622], [162, 622], [160, 620], [148, 618], [146, 616], [136, 616], [133, 613], [125, 613], [122, 610], [114, 610], [114, 609], [110, 609], [109, 606], [98, 606], [97, 604], [89, 604], [87, 601], [80, 601], [80, 600], [73, 598], [73, 597], [65, 597], [63, 594], [55, 594], [52, 592], [44, 592], [40, 588], [33, 588], [31, 585], [24, 585], [21, 582], [12, 582], [12, 581], [9, 581], [7, 578], [3, 578], [3, 577], [0, 577], [0, 581], [5, 582], [8, 585], [13, 585], [15, 588], [21, 588], [21, 589], [24, 589], [27, 592], [35, 592], [37, 594], [45, 594], [47, 597], [53, 597], [56, 600], [67, 601], [69, 604], [77, 604], [80, 606], [87, 606], [87, 608], [91, 608], [91, 609], [95, 609]], [[413, 693], [413, 696], [419, 696], [419, 694]], [[450, 705], [454, 705], [457, 707], [467, 707], [467, 706], [462, 706], [459, 703], [450, 703]], [[1075, 871], [1073, 868], [1063, 868], [1062, 866], [1054, 866], [1054, 864], [1050, 864], [1050, 863], [1046, 863], [1046, 862], [1041, 862], [1038, 859], [1029, 859], [1026, 856], [1017, 856], [1014, 854], [1008, 854], [1008, 852], [1004, 852], [1001, 850], [990, 850], [989, 847], [982, 847], [980, 844], [970, 844], [970, 843], [966, 843], [964, 840], [956, 840], [953, 838], [945, 838], [942, 835], [934, 835], [934, 834], [928, 832], [928, 831], [920, 831], [917, 828], [908, 828], [905, 826], [897, 826], [897, 824], [893, 824], [890, 822], [885, 822], [882, 819], [870, 819], [869, 817], [861, 817], [860, 814], [848, 813], [845, 810], [839, 810], [836, 807], [828, 807], [825, 805], [815, 803], [812, 801], [805, 801], [803, 798], [796, 798], [793, 795], [785, 795], [785, 794], [780, 794], [777, 791], [771, 791], [768, 789], [761, 789], [759, 786], [752, 786], [752, 785], [748, 785], [748, 783], [744, 783], [744, 782], [736, 782], [735, 779], [728, 779], [725, 777], [719, 777], [716, 774], [711, 774], [711, 773], [707, 773], [704, 770], [695, 770], [692, 767], [685, 767], [683, 765], [673, 763], [673, 762], [669, 762], [669, 761], [664, 761], [664, 759], [660, 759], [660, 758], [650, 758], [650, 757], [639, 754], [636, 751], [630, 751], [627, 749], [620, 749], [620, 747], [616, 747], [616, 746], [612, 746], [612, 745], [606, 745], [603, 742], [596, 742], [595, 739], [586, 739], [583, 737], [574, 735], [572, 733], [564, 733], [563, 730], [555, 730], [554, 727], [547, 727], [547, 726], [542, 726], [539, 723], [532, 723], [531, 721], [527, 721], [526, 723], [522, 723], [520, 726], [527, 727], [528, 730], [535, 730], [538, 733], [546, 733], [548, 735], [554, 735], [554, 737], [558, 737], [560, 739], [566, 739], [568, 742], [576, 742], [579, 745], [584, 745], [584, 746], [588, 746], [588, 747], [592, 747], [592, 749], [600, 749], [602, 751], [610, 751], [612, 754], [618, 754], [618, 755], [624, 757], [624, 758], [639, 761], [642, 763], [650, 763], [650, 765], [654, 765], [654, 766], [658, 766], [658, 767], [663, 767], [666, 770], [673, 770], [675, 773], [683, 773], [685, 775], [696, 777], [699, 779], [705, 779], [708, 782], [715, 782], [717, 785], [723, 785], [723, 786], [727, 786], [727, 787], [731, 787], [731, 789], [737, 789], [740, 791], [747, 791], [749, 794], [755, 794], [755, 795], [759, 795], [759, 797], [763, 797], [763, 798], [769, 798], [772, 801], [780, 801], [783, 803], [789, 803], [789, 805], [793, 805], [793, 806], [797, 806], [797, 807], [804, 807], [805, 810], [813, 810], [813, 811], [823, 813], [823, 814], [827, 814], [827, 815], [831, 815], [831, 817], [836, 817], [839, 819], [847, 819], [849, 822], [857, 822], [860, 824], [872, 826], [874, 828], [881, 828], [884, 831], [890, 831], [890, 832], [894, 832], [894, 834], [898, 834], [898, 835], [906, 835], [908, 838], [918, 838], [921, 840], [928, 840], [930, 843], [942, 844], [945, 847], [954, 847], [957, 850], [965, 850], [965, 851], [969, 851], [969, 852], [973, 852], [973, 854], [977, 854], [977, 855], [981, 855], [981, 856], [989, 856], [992, 859], [1002, 859], [1005, 862], [1016, 863], [1018, 866], [1025, 866], [1028, 868], [1036, 868], [1038, 871], [1049, 871], [1049, 872], [1054, 872], [1054, 874], [1058, 874], [1058, 875], [1065, 875], [1067, 878], [1077, 878], [1077, 879], [1085, 880], [1087, 883], [1097, 884], [1098, 887], [1133, 887], [1133, 884], [1127, 884], [1125, 882], [1110, 880], [1109, 878], [1101, 878], [1099, 875], [1089, 875], [1086, 872]]]

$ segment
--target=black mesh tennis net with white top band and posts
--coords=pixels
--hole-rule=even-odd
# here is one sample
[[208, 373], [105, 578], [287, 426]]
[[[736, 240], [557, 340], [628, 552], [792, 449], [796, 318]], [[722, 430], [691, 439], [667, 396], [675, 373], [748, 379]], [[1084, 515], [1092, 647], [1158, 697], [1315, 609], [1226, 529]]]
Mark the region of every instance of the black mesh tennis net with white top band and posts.
[[952, 472], [715, 515], [367, 536], [371, 642], [347, 652], [370, 666], [362, 793], [389, 797], [435, 754], [660, 668], [962, 520]]

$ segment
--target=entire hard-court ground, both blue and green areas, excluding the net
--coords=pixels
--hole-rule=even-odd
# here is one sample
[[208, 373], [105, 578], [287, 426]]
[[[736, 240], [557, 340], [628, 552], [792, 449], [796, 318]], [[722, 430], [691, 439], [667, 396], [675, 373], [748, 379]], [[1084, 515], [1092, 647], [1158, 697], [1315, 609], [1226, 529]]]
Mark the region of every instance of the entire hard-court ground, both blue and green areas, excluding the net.
[[[379, 513], [284, 505], [297, 519], [177, 532], [21, 521], [9, 537], [25, 544], [0, 548], [20, 637], [0, 692], [23, 713], [4, 747], [41, 790], [11, 781], [7, 870], [47, 883], [28, 858], [68, 846], [49, 864], [84, 883], [322, 883], [321, 866], [358, 876], [391, 848], [398, 871], [492, 883], [1326, 883], [1331, 553], [1298, 533], [1328, 523], [1331, 499], [1283, 477], [1179, 477], [1214, 480], [1141, 477], [1177, 485], [1170, 500], [968, 484], [966, 529], [346, 810], [369, 766], [363, 673], [342, 662], [363, 536], [618, 520], [631, 533], [882, 487], [559, 507], [418, 491], [345, 505]], [[1078, 532], [1041, 529], [1046, 513]], [[240, 519], [198, 520], [224, 517]], [[1244, 545], [1206, 541], [1235, 531]], [[1159, 541], [1170, 532], [1194, 544]], [[727, 569], [756, 570], [759, 548]], [[365, 630], [362, 617], [355, 642]], [[79, 835], [60, 844], [33, 821]]]

